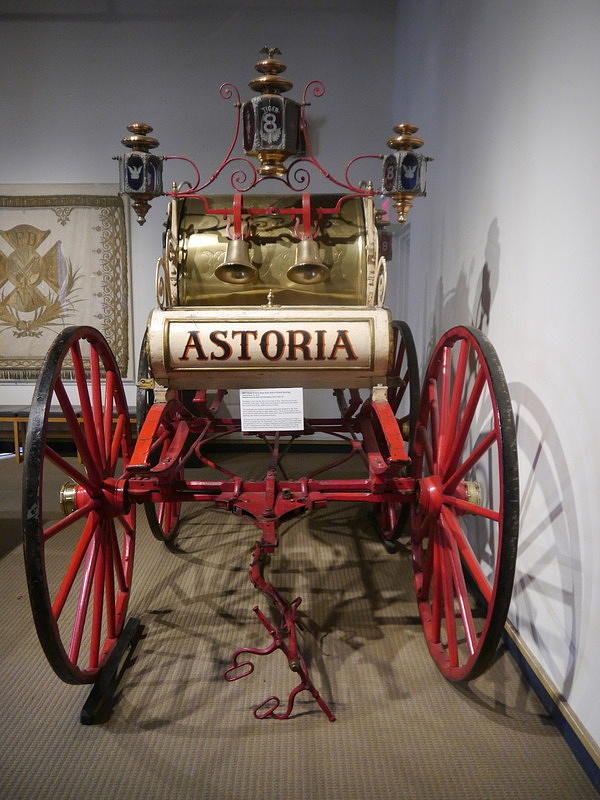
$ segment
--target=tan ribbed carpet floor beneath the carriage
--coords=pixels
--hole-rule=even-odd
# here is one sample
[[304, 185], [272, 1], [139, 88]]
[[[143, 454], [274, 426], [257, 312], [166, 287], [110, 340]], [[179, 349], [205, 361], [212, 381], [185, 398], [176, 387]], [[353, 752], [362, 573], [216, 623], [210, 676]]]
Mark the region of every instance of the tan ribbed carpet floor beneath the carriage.
[[[300, 458], [305, 468], [315, 456]], [[268, 644], [252, 613], [264, 603], [246, 575], [256, 533], [230, 514], [188, 505], [177, 553], [139, 514], [130, 612], [146, 636], [110, 721], [80, 725], [89, 688], [54, 676], [31, 621], [20, 473], [14, 459], [0, 461], [1, 798], [597, 797], [507, 653], [469, 688], [440, 676], [421, 635], [407, 554], [386, 554], [356, 505], [283, 526], [270, 572], [286, 597], [303, 597], [305, 652], [335, 723], [312, 701], [288, 721], [254, 719], [253, 706], [293, 683], [280, 653], [257, 659], [245, 680], [223, 681], [235, 648]]]

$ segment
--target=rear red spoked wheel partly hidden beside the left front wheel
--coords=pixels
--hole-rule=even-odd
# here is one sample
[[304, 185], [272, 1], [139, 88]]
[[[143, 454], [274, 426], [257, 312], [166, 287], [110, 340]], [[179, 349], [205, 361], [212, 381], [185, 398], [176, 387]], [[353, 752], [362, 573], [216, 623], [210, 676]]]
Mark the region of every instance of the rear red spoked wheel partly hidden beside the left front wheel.
[[[150, 372], [150, 359], [148, 357], [148, 334], [144, 334], [142, 347], [140, 350], [140, 359], [138, 362], [138, 390], [137, 390], [137, 425], [138, 432], [140, 431], [148, 409], [154, 403], [154, 391], [151, 388], [146, 388], [143, 385], [144, 380], [151, 377]], [[171, 442], [176, 425], [168, 426], [167, 423], [161, 425], [159, 435], [161, 436], [161, 444], [159, 449], [154, 452], [154, 460], [158, 462], [167, 452]], [[180, 470], [175, 476], [175, 480], [183, 478], [183, 470]], [[148, 519], [148, 525], [152, 535], [165, 544], [172, 544], [180, 530], [181, 523], [181, 503], [174, 500], [164, 500], [158, 503], [144, 503], [144, 511]]]

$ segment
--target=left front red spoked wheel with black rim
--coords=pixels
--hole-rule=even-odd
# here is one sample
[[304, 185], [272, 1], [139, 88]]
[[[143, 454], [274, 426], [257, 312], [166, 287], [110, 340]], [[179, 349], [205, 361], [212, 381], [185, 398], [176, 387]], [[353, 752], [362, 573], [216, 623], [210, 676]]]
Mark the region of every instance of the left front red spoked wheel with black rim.
[[[73, 387], [63, 381], [65, 370]], [[66, 420], [69, 454], [48, 443], [49, 415], [57, 408]], [[125, 622], [135, 507], [116, 476], [131, 452], [129, 409], [106, 340], [94, 328], [66, 328], [48, 351], [34, 391], [23, 534], [37, 634], [67, 683], [96, 679]]]

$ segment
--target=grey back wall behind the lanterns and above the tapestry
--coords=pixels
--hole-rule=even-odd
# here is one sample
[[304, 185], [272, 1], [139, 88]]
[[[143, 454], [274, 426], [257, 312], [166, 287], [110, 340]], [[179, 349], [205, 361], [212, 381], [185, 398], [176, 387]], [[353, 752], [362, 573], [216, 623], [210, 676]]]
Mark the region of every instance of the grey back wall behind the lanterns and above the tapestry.
[[[14, 0], [0, 8], [0, 184], [107, 183], [123, 152], [125, 126], [154, 126], [159, 152], [194, 159], [208, 176], [233, 132], [233, 108], [218, 94], [235, 83], [242, 99], [265, 44], [278, 46], [294, 82], [290, 96], [321, 79], [327, 94], [309, 109], [313, 139], [333, 174], [360, 153], [377, 153], [390, 134], [395, 2], [377, 0]], [[374, 87], [383, 87], [377, 92]], [[242, 155], [240, 152], [238, 155]], [[378, 162], [366, 174], [378, 174]], [[167, 186], [189, 172], [168, 162]], [[331, 190], [319, 177], [311, 190]], [[231, 190], [228, 179], [213, 191]], [[269, 189], [267, 189], [269, 190]], [[273, 188], [271, 187], [271, 190]], [[277, 191], [277, 189], [274, 189]], [[166, 202], [132, 226], [134, 353], [155, 305]], [[33, 386], [6, 385], [3, 403], [27, 404]], [[134, 387], [126, 387], [130, 401]]]

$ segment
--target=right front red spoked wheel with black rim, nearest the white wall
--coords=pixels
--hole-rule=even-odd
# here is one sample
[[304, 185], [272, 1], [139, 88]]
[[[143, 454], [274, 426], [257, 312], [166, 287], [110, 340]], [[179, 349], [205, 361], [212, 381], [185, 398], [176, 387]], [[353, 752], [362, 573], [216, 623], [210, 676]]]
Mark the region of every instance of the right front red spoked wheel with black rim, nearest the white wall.
[[414, 584], [429, 651], [450, 680], [493, 659], [517, 553], [515, 424], [498, 356], [478, 330], [452, 328], [429, 363], [415, 431]]

